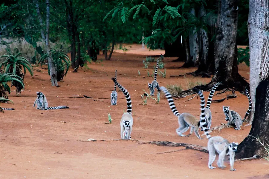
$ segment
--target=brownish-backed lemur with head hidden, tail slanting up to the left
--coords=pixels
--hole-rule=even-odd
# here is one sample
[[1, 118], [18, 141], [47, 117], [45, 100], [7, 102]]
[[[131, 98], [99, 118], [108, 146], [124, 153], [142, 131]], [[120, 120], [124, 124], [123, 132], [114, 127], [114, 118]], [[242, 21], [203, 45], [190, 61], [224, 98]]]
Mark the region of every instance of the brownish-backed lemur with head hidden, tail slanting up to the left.
[[[198, 118], [195, 118], [193, 115], [191, 115], [187, 112], [180, 114], [175, 107], [175, 103], [174, 103], [172, 95], [169, 93], [169, 91], [165, 87], [160, 87], [160, 89], [165, 94], [172, 112], [174, 113], [175, 116], [178, 117], [179, 127], [176, 129], [177, 134], [179, 136], [186, 136], [186, 135], [183, 135], [182, 133], [187, 132], [187, 130], [191, 126], [189, 135], [191, 135], [192, 132], [194, 131], [196, 136], [199, 139], [202, 139], [199, 135], [199, 132], [198, 132], [199, 128], [201, 127], [200, 120]], [[187, 136], [189, 136], [189, 135], [187, 135]]]

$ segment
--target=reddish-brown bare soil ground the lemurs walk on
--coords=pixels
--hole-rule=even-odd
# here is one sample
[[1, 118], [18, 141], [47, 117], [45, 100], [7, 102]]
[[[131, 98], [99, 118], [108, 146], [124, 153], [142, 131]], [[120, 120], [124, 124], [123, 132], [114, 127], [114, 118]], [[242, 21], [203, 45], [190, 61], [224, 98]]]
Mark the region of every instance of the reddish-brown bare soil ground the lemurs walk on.
[[[140, 49], [140, 45], [132, 45], [133, 50], [126, 55], [116, 50], [111, 61], [99, 55], [98, 63], [88, 64], [88, 68], [79, 69], [78, 73], [68, 72], [66, 78], [59, 82], [61, 87], [51, 87], [47, 70], [34, 71], [32, 79], [27, 73], [25, 91], [21, 97], [11, 92], [13, 104], [1, 104], [1, 107], [14, 107], [15, 111], [1, 114], [0, 125], [0, 178], [269, 178], [267, 161], [236, 161], [235, 172], [229, 171], [229, 161], [225, 161], [226, 169], [210, 170], [207, 167], [208, 154], [194, 150], [170, 152], [182, 147], [164, 147], [140, 144], [137, 141], [87, 141], [93, 139], [120, 139], [120, 118], [123, 109], [126, 111], [124, 95], [117, 89], [118, 102], [110, 104], [110, 94], [114, 89], [111, 77], [118, 70], [117, 80], [129, 90], [133, 104], [134, 126], [132, 138], [139, 141], [172, 141], [207, 146], [207, 139], [200, 140], [196, 135], [179, 137], [175, 129], [177, 118], [171, 112], [166, 98], [161, 93], [159, 104], [153, 99], [147, 105], [140, 105], [140, 95], [147, 89], [147, 77], [143, 69], [142, 59], [146, 55], [164, 54], [162, 50], [150, 51]], [[138, 50], [136, 51], [135, 48]], [[143, 55], [140, 55], [142, 52]], [[148, 52], [148, 53], [146, 53]], [[138, 54], [135, 54], [138, 53]], [[161, 86], [180, 84], [184, 89], [190, 82], [207, 83], [210, 78], [169, 78], [192, 72], [195, 68], [171, 69], [183, 63], [171, 62], [175, 58], [164, 58], [166, 78], [157, 77]], [[155, 63], [149, 65], [152, 74]], [[141, 76], [138, 76], [140, 70]], [[163, 70], [162, 70], [163, 71]], [[249, 78], [249, 68], [239, 65], [239, 73]], [[196, 85], [196, 84], [195, 84]], [[15, 88], [12, 88], [15, 90]], [[30, 91], [28, 91], [30, 90]], [[44, 92], [49, 106], [68, 105], [70, 109], [37, 110], [33, 108], [36, 92]], [[214, 95], [220, 99], [229, 92]], [[93, 98], [69, 98], [87, 95]], [[209, 92], [204, 92], [208, 97]], [[244, 116], [248, 102], [247, 97], [237, 92], [238, 98], [213, 103], [212, 127], [225, 123], [222, 105], [230, 106]], [[189, 112], [197, 118], [200, 115], [199, 99], [192, 96], [175, 101], [179, 112]], [[107, 113], [111, 114], [112, 124], [108, 122]], [[63, 122], [65, 121], [65, 122]], [[250, 131], [251, 126], [236, 131], [233, 128], [213, 131], [211, 135], [220, 135], [231, 142], [241, 142]], [[188, 131], [189, 132], [189, 131]], [[187, 133], [188, 133], [187, 132]], [[200, 135], [203, 132], [199, 131]], [[216, 161], [213, 163], [216, 166]]]

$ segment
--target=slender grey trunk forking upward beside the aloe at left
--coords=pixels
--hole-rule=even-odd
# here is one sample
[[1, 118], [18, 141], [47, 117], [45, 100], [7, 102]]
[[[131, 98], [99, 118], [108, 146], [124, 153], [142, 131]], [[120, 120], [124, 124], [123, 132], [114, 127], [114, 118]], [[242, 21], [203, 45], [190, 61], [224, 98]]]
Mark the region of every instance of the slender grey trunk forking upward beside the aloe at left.
[[50, 48], [50, 41], [49, 41], [49, 25], [50, 25], [49, 0], [46, 0], [46, 4], [47, 4], [47, 7], [46, 7], [46, 36], [45, 36], [44, 30], [43, 30], [44, 24], [43, 24], [42, 17], [40, 14], [39, 4], [38, 4], [37, 0], [34, 0], [34, 3], [36, 4], [36, 13], [37, 13], [37, 16], [39, 18], [39, 23], [41, 26], [40, 33], [41, 33], [43, 40], [46, 43], [46, 53], [48, 54], [48, 65], [50, 67], [51, 84], [52, 84], [52, 86], [58, 86], [58, 83], [56, 80], [56, 68], [55, 68], [54, 63], [53, 63], [53, 59], [52, 59], [52, 55], [51, 55], [51, 48]]

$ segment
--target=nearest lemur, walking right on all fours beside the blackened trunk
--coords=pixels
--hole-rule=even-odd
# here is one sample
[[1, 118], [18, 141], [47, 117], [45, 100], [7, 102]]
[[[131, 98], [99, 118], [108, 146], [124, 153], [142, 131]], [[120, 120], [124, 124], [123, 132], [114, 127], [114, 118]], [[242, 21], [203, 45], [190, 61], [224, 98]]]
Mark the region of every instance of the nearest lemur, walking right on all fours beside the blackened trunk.
[[198, 90], [197, 88], [192, 88], [192, 91], [199, 94], [199, 97], [201, 98], [201, 117], [200, 117], [200, 125], [204, 130], [205, 135], [207, 136], [208, 143], [207, 148], [209, 152], [209, 161], [208, 161], [208, 168], [215, 169], [216, 167], [212, 166], [212, 163], [215, 161], [216, 154], [215, 152], [218, 152], [218, 162], [217, 165], [219, 168], [224, 168], [224, 157], [226, 155], [230, 155], [230, 171], [235, 171], [236, 169], [233, 168], [234, 164], [234, 155], [237, 150], [238, 143], [232, 142], [230, 143], [227, 139], [221, 137], [221, 136], [215, 136], [211, 137], [209, 135], [209, 131], [207, 129], [207, 122], [205, 118], [205, 108], [204, 108], [204, 95], [201, 90]]

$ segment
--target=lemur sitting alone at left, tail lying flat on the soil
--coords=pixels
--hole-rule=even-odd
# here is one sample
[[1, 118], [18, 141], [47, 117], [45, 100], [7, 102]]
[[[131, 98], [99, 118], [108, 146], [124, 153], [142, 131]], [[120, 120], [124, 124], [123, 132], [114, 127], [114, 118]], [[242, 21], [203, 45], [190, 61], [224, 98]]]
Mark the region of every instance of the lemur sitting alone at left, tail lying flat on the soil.
[[36, 109], [65, 109], [69, 108], [68, 106], [56, 106], [56, 107], [48, 107], [48, 101], [46, 96], [42, 92], [36, 92], [37, 98], [36, 101], [33, 104], [33, 107], [37, 106]]

